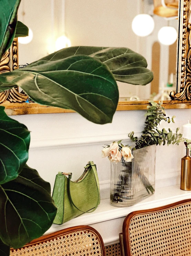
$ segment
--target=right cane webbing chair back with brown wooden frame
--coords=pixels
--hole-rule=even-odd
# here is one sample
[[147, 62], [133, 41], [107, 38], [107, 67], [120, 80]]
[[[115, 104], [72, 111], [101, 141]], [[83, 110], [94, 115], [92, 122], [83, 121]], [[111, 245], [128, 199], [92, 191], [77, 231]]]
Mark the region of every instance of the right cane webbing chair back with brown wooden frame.
[[191, 199], [130, 213], [123, 247], [125, 256], [191, 255]]

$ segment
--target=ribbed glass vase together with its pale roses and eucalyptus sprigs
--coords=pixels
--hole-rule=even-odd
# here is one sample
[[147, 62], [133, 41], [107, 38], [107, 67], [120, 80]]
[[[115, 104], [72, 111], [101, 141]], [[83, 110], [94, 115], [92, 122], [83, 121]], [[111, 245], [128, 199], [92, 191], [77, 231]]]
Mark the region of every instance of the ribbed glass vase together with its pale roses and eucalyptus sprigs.
[[[162, 102], [149, 102], [150, 105], [147, 106], [145, 113], [145, 128], [141, 138], [134, 137], [134, 132], [131, 132], [129, 137], [133, 145], [124, 146], [120, 140], [112, 142], [102, 150], [102, 158], [108, 157], [112, 163], [110, 194], [112, 205], [130, 206], [154, 193], [154, 145], [161, 145], [162, 143], [163, 145], [179, 145], [183, 141], [191, 142], [183, 138], [181, 133], [178, 133], [179, 128], [176, 129], [175, 133], [170, 128], [168, 131], [165, 128], [160, 131], [158, 126], [161, 121], [175, 123], [175, 116], [172, 118], [166, 116]], [[118, 165], [115, 166], [113, 163]]]

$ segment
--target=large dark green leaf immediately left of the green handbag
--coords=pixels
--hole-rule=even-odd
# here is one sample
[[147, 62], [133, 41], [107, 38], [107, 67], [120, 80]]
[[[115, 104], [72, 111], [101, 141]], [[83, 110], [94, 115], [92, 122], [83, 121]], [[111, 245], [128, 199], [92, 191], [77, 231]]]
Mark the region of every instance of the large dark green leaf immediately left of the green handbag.
[[50, 184], [27, 165], [19, 176], [0, 186], [0, 238], [13, 248], [46, 232], [57, 213]]

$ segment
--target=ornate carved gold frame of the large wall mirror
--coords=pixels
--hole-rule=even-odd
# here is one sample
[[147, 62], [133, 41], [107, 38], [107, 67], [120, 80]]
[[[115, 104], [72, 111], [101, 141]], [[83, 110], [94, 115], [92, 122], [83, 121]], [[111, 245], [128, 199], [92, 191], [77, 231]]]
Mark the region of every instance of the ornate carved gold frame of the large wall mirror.
[[[179, 43], [177, 64], [177, 91], [171, 92], [172, 100], [163, 101], [163, 106], [171, 108], [191, 108], [191, 0], [180, 0], [179, 3]], [[18, 42], [14, 38], [12, 47], [0, 61], [0, 73], [18, 68]], [[57, 107], [42, 106], [37, 103], [25, 103], [28, 96], [19, 89], [12, 88], [0, 93], [0, 104], [6, 107], [8, 115], [72, 113], [74, 111]], [[117, 110], [147, 109], [148, 101], [120, 101]]]

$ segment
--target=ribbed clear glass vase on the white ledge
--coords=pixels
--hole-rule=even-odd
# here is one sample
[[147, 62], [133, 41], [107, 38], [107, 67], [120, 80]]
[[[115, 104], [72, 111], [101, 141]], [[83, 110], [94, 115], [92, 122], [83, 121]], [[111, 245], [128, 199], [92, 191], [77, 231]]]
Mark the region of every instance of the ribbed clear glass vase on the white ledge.
[[132, 151], [132, 162], [111, 162], [110, 202], [131, 206], [154, 194], [156, 145]]

